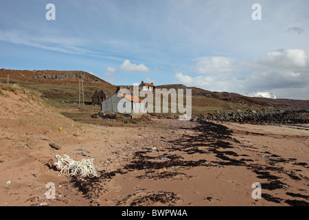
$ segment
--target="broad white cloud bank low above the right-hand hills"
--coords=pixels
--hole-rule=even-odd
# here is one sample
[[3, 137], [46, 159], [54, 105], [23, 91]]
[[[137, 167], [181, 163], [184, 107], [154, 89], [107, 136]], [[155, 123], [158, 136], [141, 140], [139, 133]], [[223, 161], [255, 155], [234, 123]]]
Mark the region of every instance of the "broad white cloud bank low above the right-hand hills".
[[238, 63], [232, 58], [218, 56], [195, 61], [193, 74], [174, 74], [178, 83], [242, 95], [270, 91], [281, 98], [309, 99], [308, 93], [297, 93], [309, 88], [309, 56], [304, 50], [276, 50], [261, 58]]

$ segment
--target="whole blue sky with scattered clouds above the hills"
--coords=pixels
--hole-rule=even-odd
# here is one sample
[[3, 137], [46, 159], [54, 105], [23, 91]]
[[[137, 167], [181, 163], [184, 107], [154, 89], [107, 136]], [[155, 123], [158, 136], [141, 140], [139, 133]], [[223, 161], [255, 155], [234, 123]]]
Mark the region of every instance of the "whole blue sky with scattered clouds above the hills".
[[308, 100], [308, 8], [307, 0], [1, 1], [0, 67]]

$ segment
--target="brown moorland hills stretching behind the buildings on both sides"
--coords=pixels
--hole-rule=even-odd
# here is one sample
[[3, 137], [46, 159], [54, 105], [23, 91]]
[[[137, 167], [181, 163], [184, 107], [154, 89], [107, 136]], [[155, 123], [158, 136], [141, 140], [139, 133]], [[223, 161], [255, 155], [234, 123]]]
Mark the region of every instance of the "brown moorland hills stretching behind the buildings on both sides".
[[[47, 99], [47, 102], [55, 107], [62, 106], [59, 104], [62, 101], [78, 101], [78, 82], [81, 78], [84, 79], [84, 94], [87, 102], [91, 102], [91, 96], [96, 89], [103, 89], [108, 96], [117, 89], [116, 85], [83, 71], [0, 69], [0, 82], [5, 83], [8, 76], [10, 83], [18, 83], [40, 92], [42, 98]], [[122, 87], [132, 87], [132, 85]], [[182, 84], [156, 87], [157, 89], [192, 89], [192, 113], [196, 114], [238, 109], [309, 109], [309, 100], [256, 98], [230, 92], [208, 91]]]

